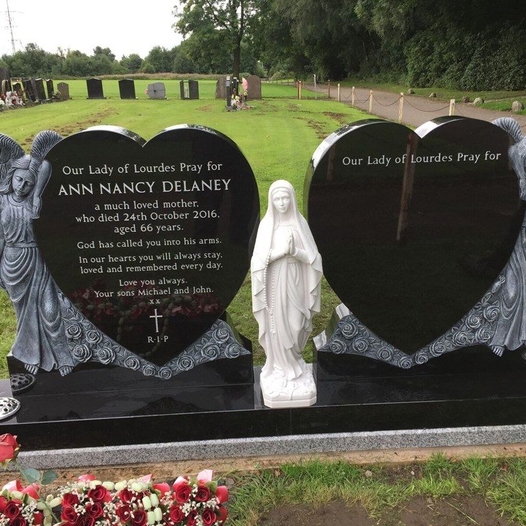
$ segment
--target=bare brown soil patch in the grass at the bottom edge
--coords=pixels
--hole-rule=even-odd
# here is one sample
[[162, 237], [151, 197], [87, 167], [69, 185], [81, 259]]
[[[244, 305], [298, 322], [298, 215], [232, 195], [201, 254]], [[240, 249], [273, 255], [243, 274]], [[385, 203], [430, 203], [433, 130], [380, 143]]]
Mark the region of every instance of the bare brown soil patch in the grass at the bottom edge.
[[266, 514], [261, 526], [520, 526], [501, 517], [479, 496], [433, 501], [416, 497], [381, 517], [371, 518], [362, 505], [334, 501], [320, 508], [286, 505]]

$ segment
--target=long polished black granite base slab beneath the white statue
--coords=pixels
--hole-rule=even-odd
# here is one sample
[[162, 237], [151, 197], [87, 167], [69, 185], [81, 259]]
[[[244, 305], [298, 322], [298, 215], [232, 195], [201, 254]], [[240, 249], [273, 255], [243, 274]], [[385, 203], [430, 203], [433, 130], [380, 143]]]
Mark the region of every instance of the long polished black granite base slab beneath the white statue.
[[[262, 405], [259, 373], [255, 368], [250, 393], [239, 386], [210, 386], [137, 390], [133, 397], [92, 392], [67, 401], [25, 397], [21, 412], [0, 429], [17, 434], [26, 450], [38, 450], [526, 423], [520, 370], [492, 379], [461, 373], [319, 381], [316, 405], [281, 410]], [[1, 381], [0, 396], [8, 391], [8, 382]], [[75, 410], [53, 420], [58, 403]], [[127, 416], [114, 416], [123, 407]]]

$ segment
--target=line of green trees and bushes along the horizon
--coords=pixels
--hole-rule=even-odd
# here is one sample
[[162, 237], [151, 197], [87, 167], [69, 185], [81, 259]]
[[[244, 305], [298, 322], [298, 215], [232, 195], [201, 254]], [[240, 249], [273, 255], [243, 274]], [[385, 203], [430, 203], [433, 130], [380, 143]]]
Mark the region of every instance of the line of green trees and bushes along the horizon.
[[180, 0], [184, 40], [145, 58], [108, 48], [3, 55], [14, 76], [234, 73], [361, 77], [464, 90], [526, 88], [526, 15], [515, 0]]

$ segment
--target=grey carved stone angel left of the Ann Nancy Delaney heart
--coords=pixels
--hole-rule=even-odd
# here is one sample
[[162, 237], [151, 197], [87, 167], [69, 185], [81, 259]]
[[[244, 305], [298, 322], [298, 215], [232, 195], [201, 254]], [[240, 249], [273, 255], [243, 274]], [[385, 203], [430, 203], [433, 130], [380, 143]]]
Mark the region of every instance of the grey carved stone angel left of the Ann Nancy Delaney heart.
[[14, 140], [0, 135], [0, 286], [16, 312], [11, 353], [33, 374], [42, 368], [65, 375], [74, 365], [61, 295], [33, 231], [40, 196], [51, 175], [51, 165], [44, 158], [61, 139], [55, 132], [40, 132], [30, 155], [24, 155]]

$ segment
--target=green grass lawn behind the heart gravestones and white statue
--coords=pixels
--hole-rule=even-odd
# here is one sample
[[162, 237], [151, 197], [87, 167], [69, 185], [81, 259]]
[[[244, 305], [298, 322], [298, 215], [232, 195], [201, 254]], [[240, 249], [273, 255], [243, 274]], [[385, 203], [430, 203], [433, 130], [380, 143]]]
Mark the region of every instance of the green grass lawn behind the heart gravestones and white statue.
[[[140, 84], [151, 81], [137, 81]], [[168, 95], [175, 91], [177, 81], [166, 81]], [[203, 83], [203, 84], [201, 84]], [[197, 101], [169, 99], [152, 101], [146, 96], [138, 100], [116, 98], [116, 81], [105, 81], [104, 90], [110, 98], [86, 100], [83, 91], [85, 81], [70, 81], [73, 99], [61, 103], [50, 103], [10, 110], [0, 114], [0, 132], [17, 140], [29, 151], [34, 136], [42, 129], [55, 129], [64, 136], [71, 135], [92, 125], [117, 125], [133, 130], [149, 139], [165, 127], [195, 123], [217, 129], [232, 138], [249, 160], [258, 181], [262, 211], [266, 210], [268, 187], [276, 179], [288, 179], [296, 188], [298, 201], [302, 203], [303, 177], [310, 157], [325, 136], [342, 124], [364, 118], [364, 114], [349, 105], [328, 100], [263, 99], [251, 101], [253, 108], [240, 112], [226, 112], [222, 100], [214, 99], [214, 82], [200, 81], [203, 90], [209, 90], [210, 98]], [[178, 88], [178, 84], [177, 84]], [[267, 85], [263, 86], [263, 92]], [[268, 90], [281, 97], [287, 92], [295, 95], [293, 86], [268, 84]], [[277, 95], [276, 95], [277, 94]], [[281, 94], [281, 95], [279, 95]], [[313, 334], [317, 334], [328, 321], [331, 310], [338, 299], [329, 286], [323, 284], [323, 312], [315, 318]], [[258, 327], [251, 312], [249, 279], [229, 308], [238, 328], [255, 345], [255, 360], [264, 361], [258, 348]], [[16, 322], [8, 299], [0, 295], [0, 375], [5, 377], [5, 355], [14, 337]], [[307, 357], [312, 344], [305, 351]]]

